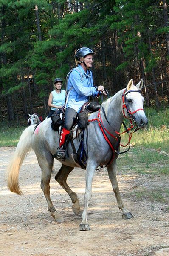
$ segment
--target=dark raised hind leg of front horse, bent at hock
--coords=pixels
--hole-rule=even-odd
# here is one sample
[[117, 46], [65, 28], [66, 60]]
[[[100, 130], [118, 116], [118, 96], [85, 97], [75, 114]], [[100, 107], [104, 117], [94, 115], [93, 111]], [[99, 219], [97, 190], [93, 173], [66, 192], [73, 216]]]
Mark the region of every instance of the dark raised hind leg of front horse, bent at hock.
[[74, 213], [79, 214], [80, 212], [80, 206], [79, 206], [79, 199], [75, 192], [73, 192], [70, 187], [68, 186], [66, 180], [69, 175], [69, 173], [74, 169], [74, 167], [65, 166], [62, 164], [59, 172], [55, 176], [55, 180], [62, 186], [63, 189], [68, 193], [72, 200], [72, 210]]

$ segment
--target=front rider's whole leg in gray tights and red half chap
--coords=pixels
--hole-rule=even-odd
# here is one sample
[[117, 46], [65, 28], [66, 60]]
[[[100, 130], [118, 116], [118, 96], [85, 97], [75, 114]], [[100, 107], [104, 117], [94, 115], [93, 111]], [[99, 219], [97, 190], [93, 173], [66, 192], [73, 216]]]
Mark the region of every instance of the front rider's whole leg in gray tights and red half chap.
[[59, 150], [56, 152], [57, 159], [65, 160], [66, 155], [66, 140], [70, 134], [70, 130], [73, 127], [77, 118], [77, 112], [73, 108], [66, 108], [65, 112], [65, 124], [61, 131]]

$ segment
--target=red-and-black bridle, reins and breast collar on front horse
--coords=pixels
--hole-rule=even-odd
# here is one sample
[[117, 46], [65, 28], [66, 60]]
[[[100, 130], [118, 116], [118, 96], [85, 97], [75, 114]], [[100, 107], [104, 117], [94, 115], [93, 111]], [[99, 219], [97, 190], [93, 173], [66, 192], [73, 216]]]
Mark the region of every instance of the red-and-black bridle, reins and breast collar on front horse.
[[[131, 140], [131, 138], [132, 138], [132, 134], [133, 134], [135, 131], [137, 131], [137, 130], [139, 129], [139, 128], [135, 128], [137, 125], [136, 125], [136, 124], [133, 124], [133, 122], [135, 122], [135, 120], [134, 120], [134, 118], [133, 118], [132, 115], [133, 115], [134, 113], [136, 113], [137, 111], [139, 111], [139, 110], [143, 110], [143, 108], [138, 108], [137, 110], [135, 110], [135, 111], [133, 111], [133, 112], [131, 112], [131, 111], [129, 110], [129, 108], [128, 108], [128, 106], [127, 106], [126, 95], [127, 95], [128, 93], [130, 93], [130, 92], [138, 92], [138, 93], [140, 93], [140, 90], [129, 90], [129, 91], [126, 91], [126, 89], [125, 89], [124, 92], [123, 92], [123, 94], [122, 94], [122, 101], [123, 101], [123, 104], [122, 104], [122, 113], [123, 113], [124, 118], [130, 119], [130, 128], [127, 128], [126, 125], [125, 125], [125, 123], [123, 122], [125, 131], [122, 132], [122, 133], [120, 133], [120, 132], [118, 132], [118, 131], [115, 131], [115, 133], [117, 134], [117, 136], [111, 134], [111, 133], [104, 127], [103, 121], [102, 121], [102, 119], [101, 119], [100, 110], [102, 110], [102, 112], [103, 112], [103, 114], [104, 114], [104, 117], [105, 117], [107, 123], [110, 125], [109, 121], [107, 120], [107, 116], [106, 116], [106, 113], [105, 113], [105, 111], [104, 111], [104, 108], [103, 108], [102, 106], [101, 106], [101, 109], [99, 109], [99, 111], [98, 111], [97, 117], [94, 118], [94, 119], [89, 119], [89, 120], [88, 120], [88, 122], [94, 122], [94, 121], [97, 121], [97, 122], [98, 122], [99, 128], [101, 129], [101, 132], [102, 132], [102, 134], [103, 134], [103, 136], [104, 136], [104, 139], [106, 140], [106, 142], [108, 143], [108, 145], [109, 145], [110, 148], [112, 149], [112, 153], [113, 153], [113, 154], [112, 154], [112, 157], [111, 157], [109, 163], [107, 163], [107, 165], [113, 162], [114, 157], [115, 157], [115, 154], [114, 154], [114, 153], [116, 153], [116, 154], [118, 153], [118, 147], [119, 147], [119, 145], [121, 145], [122, 147], [126, 147], [127, 145], [129, 145], [129, 148], [128, 148], [128, 150], [127, 150], [127, 151], [129, 151], [129, 149], [130, 149], [130, 140]], [[127, 117], [127, 116], [125, 115], [124, 109], [126, 109], [127, 114], [129, 115], [129, 117]], [[135, 128], [134, 131], [132, 131], [133, 128]], [[110, 142], [109, 138], [107, 137], [105, 131], [107, 132], [107, 134], [109, 134], [111, 137], [113, 137], [113, 138], [118, 142], [118, 146], [117, 146], [116, 149], [113, 147], [113, 145], [112, 145], [112, 143]], [[129, 141], [128, 141], [128, 143], [127, 143], [126, 145], [122, 145], [122, 144], [120, 143], [120, 141], [121, 141], [121, 134], [124, 134], [124, 133], [126, 133], [126, 132], [129, 134]], [[123, 153], [126, 153], [127, 151], [124, 151], [124, 152], [121, 152], [121, 153], [118, 153], [118, 154], [123, 154]]]

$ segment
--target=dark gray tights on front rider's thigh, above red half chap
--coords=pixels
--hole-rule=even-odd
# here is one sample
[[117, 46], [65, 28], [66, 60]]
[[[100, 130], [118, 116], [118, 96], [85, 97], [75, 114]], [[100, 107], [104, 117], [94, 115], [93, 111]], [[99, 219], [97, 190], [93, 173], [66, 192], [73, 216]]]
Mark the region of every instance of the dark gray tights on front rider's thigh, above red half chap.
[[64, 128], [70, 131], [76, 122], [78, 113], [73, 108], [66, 108]]

